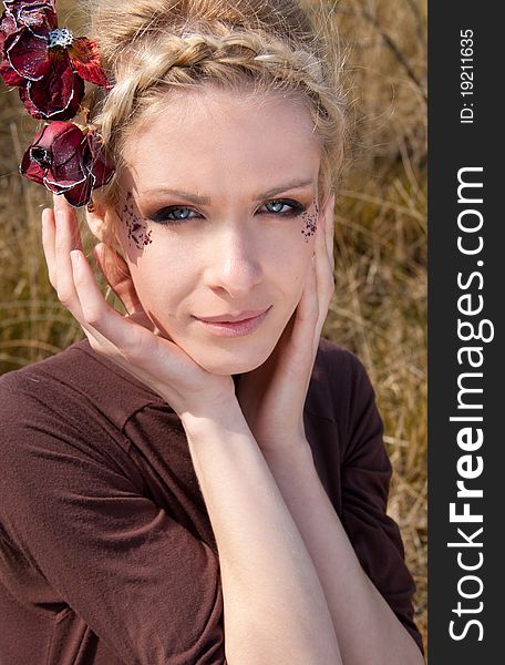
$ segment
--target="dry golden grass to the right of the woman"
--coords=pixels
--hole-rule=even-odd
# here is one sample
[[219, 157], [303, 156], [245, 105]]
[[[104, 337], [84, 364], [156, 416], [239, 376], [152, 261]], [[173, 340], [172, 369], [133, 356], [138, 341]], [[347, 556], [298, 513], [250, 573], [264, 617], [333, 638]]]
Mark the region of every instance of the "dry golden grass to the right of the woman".
[[426, 7], [334, 4], [353, 83], [354, 155], [336, 224], [337, 293], [326, 336], [353, 349], [375, 387], [400, 524], [427, 644]]

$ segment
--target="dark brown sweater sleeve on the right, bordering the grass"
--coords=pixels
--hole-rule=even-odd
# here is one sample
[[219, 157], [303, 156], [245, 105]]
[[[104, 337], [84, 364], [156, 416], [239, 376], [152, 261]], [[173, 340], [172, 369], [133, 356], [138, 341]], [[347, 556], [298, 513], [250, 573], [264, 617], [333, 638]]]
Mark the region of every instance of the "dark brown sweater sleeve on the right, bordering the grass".
[[342, 524], [364, 572], [423, 652], [413, 622], [415, 585], [405, 565], [399, 526], [387, 514], [392, 468], [382, 440], [382, 420], [365, 369], [352, 354], [347, 360], [352, 389], [341, 469]]

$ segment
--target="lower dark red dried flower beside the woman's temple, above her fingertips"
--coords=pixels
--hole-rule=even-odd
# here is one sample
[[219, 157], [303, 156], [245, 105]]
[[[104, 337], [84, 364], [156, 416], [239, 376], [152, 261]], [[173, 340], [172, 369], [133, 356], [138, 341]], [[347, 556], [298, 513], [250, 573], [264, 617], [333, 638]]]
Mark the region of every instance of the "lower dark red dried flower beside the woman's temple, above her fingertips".
[[23, 155], [20, 171], [50, 192], [63, 194], [74, 207], [86, 205], [93, 190], [105, 185], [114, 168], [100, 139], [71, 122], [52, 122], [40, 131]]

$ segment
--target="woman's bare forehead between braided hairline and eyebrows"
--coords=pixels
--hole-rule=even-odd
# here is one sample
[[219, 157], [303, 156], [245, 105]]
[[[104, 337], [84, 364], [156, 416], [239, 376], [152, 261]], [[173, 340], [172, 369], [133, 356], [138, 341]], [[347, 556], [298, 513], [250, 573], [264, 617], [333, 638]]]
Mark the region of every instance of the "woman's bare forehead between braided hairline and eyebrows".
[[123, 150], [136, 190], [193, 184], [262, 187], [281, 177], [315, 176], [320, 145], [301, 101], [214, 88], [167, 94]]

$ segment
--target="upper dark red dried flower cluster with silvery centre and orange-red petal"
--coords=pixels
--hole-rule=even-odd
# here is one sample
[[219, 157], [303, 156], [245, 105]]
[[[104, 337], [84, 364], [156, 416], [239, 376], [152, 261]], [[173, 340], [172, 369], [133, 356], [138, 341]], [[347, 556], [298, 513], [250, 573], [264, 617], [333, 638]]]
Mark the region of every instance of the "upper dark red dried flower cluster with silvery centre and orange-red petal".
[[33, 117], [69, 120], [84, 96], [84, 81], [106, 86], [96, 42], [58, 28], [55, 2], [6, 1], [0, 22], [0, 74], [19, 88]]

